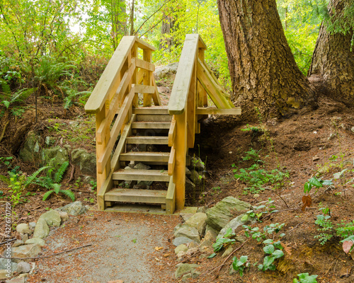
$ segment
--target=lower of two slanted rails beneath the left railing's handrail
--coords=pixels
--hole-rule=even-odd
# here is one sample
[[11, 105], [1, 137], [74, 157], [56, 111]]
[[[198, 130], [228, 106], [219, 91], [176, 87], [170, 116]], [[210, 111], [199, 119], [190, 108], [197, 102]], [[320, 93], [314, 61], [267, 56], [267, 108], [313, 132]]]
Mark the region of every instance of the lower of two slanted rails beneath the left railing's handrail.
[[103, 154], [101, 154], [100, 158], [98, 158], [97, 170], [99, 173], [103, 171], [103, 167], [105, 166], [105, 164], [108, 163], [108, 158], [110, 158], [110, 154], [112, 153], [113, 146], [115, 144], [115, 141], [117, 140], [120, 129], [122, 128], [122, 125], [125, 121], [127, 112], [130, 109], [130, 105], [132, 104], [134, 95], [135, 95], [135, 89], [133, 86], [130, 93], [125, 97], [122, 108], [120, 108], [119, 115], [115, 120], [114, 125], [110, 131], [110, 139], [108, 140], [107, 145], [105, 146]]

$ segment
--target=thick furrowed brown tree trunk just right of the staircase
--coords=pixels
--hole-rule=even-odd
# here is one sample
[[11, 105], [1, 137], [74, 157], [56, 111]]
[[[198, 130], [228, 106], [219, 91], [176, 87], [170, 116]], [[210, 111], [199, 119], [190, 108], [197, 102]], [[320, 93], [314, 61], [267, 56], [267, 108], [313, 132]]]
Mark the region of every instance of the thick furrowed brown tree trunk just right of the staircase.
[[295, 63], [275, 0], [218, 0], [217, 5], [234, 100], [243, 116], [261, 112], [266, 118], [314, 105], [314, 91]]

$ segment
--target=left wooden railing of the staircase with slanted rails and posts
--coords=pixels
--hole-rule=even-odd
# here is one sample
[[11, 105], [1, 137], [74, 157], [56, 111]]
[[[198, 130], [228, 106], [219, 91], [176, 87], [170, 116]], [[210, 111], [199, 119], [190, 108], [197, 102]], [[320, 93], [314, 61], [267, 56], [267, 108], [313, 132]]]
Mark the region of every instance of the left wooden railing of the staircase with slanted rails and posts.
[[[152, 74], [154, 50], [137, 37], [123, 37], [85, 105], [87, 113], [96, 115], [98, 209], [104, 209], [104, 193], [113, 186], [112, 173], [120, 166], [117, 156], [123, 150], [124, 138], [130, 129], [127, 125], [131, 125], [135, 117], [132, 107], [138, 106], [138, 93], [143, 93], [143, 106], [151, 106], [152, 102], [161, 105]], [[120, 133], [120, 142], [111, 160]]]

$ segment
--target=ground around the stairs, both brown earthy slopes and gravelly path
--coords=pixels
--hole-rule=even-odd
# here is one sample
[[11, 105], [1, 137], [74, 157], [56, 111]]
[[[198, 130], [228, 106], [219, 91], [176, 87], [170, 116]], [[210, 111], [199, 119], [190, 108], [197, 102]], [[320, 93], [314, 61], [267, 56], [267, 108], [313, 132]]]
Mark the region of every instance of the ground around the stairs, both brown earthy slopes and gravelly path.
[[[33, 109], [30, 108], [22, 118], [15, 120], [14, 117], [8, 116], [8, 130], [16, 134], [18, 132], [16, 128], [21, 128], [26, 121], [33, 121], [33, 113]], [[75, 135], [69, 125], [72, 120], [79, 122], [79, 131], [75, 130], [79, 135]], [[195, 149], [191, 149], [190, 154], [196, 154], [205, 161], [207, 178], [205, 183], [195, 191], [186, 192], [186, 205], [212, 207], [227, 196], [237, 197], [253, 205], [262, 202], [264, 204], [269, 199], [273, 200], [278, 212], [263, 214], [263, 216], [267, 215], [263, 221], [253, 226], [258, 226], [263, 231], [266, 225], [284, 223], [280, 233], [285, 233], [281, 238], [285, 256], [278, 260], [275, 271], [261, 272], [257, 266], [263, 263], [265, 255], [263, 244], [258, 243], [256, 239], [250, 239], [244, 246], [239, 243], [234, 246], [234, 248], [241, 246], [234, 253], [237, 258], [248, 255], [251, 262], [249, 270], [244, 272], [244, 277], [229, 275], [232, 258], [222, 265], [224, 258], [221, 258], [221, 254], [211, 259], [200, 259], [194, 256], [188, 258], [186, 262], [200, 264], [202, 275], [198, 279], [190, 279], [189, 282], [292, 282], [297, 274], [303, 272], [319, 275], [317, 282], [322, 283], [354, 282], [352, 275], [354, 261], [343, 252], [341, 238], [336, 236], [334, 230], [341, 226], [342, 222], [348, 224], [354, 219], [353, 127], [353, 108], [346, 108], [342, 103], [327, 98], [319, 99], [319, 108], [316, 110], [299, 110], [281, 120], [263, 121], [260, 117], [258, 122], [245, 125], [232, 117], [224, 116], [210, 117], [203, 121], [201, 134], [197, 135]], [[88, 151], [94, 151], [93, 117], [84, 115], [81, 108], [63, 112], [58, 105], [43, 102], [40, 104], [39, 122], [37, 124], [32, 122], [26, 126], [27, 131], [30, 129], [42, 131], [43, 137], [48, 133], [54, 135], [59, 144], [75, 144]], [[11, 135], [11, 132], [8, 135]], [[11, 152], [9, 146], [4, 146], [4, 143], [0, 146], [3, 149], [1, 156], [4, 156], [6, 151]], [[21, 163], [16, 158], [16, 152], [13, 156], [12, 166], [21, 166], [21, 170], [27, 173], [35, 171], [34, 167]], [[246, 156], [253, 156], [255, 159], [244, 160]], [[266, 183], [260, 189], [256, 185], [252, 187], [249, 182], [241, 178], [234, 177], [235, 173], [240, 172], [240, 168], [244, 168], [244, 172], [247, 173], [251, 171], [248, 170], [251, 166], [255, 168], [254, 164], [259, 170], [267, 171], [266, 173], [262, 171], [261, 175], [268, 174], [274, 183]], [[0, 174], [5, 175], [6, 169], [0, 168]], [[333, 186], [320, 187], [318, 190], [313, 187], [309, 192], [312, 204], [302, 211], [304, 183], [315, 175], [322, 180], [333, 179], [333, 174], [344, 169], [347, 171], [341, 175], [341, 178], [333, 181]], [[67, 184], [69, 176], [70, 171], [64, 176], [62, 188], [72, 189], [77, 200], [95, 207], [96, 195], [91, 185], [82, 182], [79, 170], [76, 169], [72, 183]], [[4, 191], [2, 198], [5, 200], [11, 193], [8, 192], [7, 187], [2, 187], [1, 190]], [[14, 224], [35, 221], [47, 209], [55, 209], [69, 203], [69, 200], [60, 195], [52, 195], [49, 200], [43, 202], [43, 193], [43, 190], [36, 187], [29, 187], [26, 192], [23, 192], [26, 200], [14, 207], [16, 213]], [[3, 202], [1, 207], [4, 206]], [[330, 220], [333, 224], [333, 229], [329, 230], [333, 236], [324, 245], [314, 238], [321, 233], [315, 221], [316, 216], [322, 212], [331, 216]], [[4, 222], [4, 218], [1, 221]], [[144, 267], [140, 269], [137, 267], [137, 269], [146, 273], [145, 279], [149, 281], [142, 281], [138, 277], [127, 277], [125, 283], [179, 282], [173, 279], [178, 261], [173, 251], [174, 247], [171, 245], [173, 226], [178, 224], [178, 217], [88, 212], [70, 221], [51, 233], [51, 242], [45, 247], [46, 250], [42, 255], [64, 249], [63, 246], [60, 246], [61, 248], [55, 246], [59, 239], [62, 239], [61, 243], [64, 243], [65, 249], [86, 243], [93, 243], [96, 246], [73, 251], [69, 255], [38, 260], [38, 273], [30, 277], [30, 282], [96, 282], [95, 278], [97, 282], [106, 282], [105, 280], [111, 277], [100, 277], [101, 273], [97, 268], [104, 267], [107, 272], [111, 272], [112, 276], [115, 275], [115, 271], [119, 275], [122, 269], [127, 269], [135, 260], [142, 258], [146, 259], [144, 264], [148, 270], [144, 271]], [[0, 233], [3, 235], [4, 223], [0, 226]], [[125, 226], [125, 228], [120, 233], [114, 231], [114, 226]], [[139, 234], [141, 231], [146, 233]], [[236, 232], [244, 235], [244, 231]], [[125, 242], [122, 242], [123, 247], [120, 247], [122, 249], [118, 248], [119, 245], [115, 247], [116, 249], [110, 246], [110, 240], [113, 238], [119, 240], [121, 235], [126, 235]], [[146, 241], [140, 241], [145, 237]], [[101, 248], [98, 248], [97, 245], [101, 243]], [[156, 247], [163, 248], [155, 250]], [[126, 253], [131, 255], [128, 257], [129, 260], [122, 256], [120, 261], [114, 261], [114, 256], [110, 253], [115, 253], [117, 257]], [[99, 262], [103, 264], [100, 265]], [[108, 268], [108, 265], [111, 268]], [[80, 270], [79, 273], [84, 279], [82, 281], [68, 279], [69, 273], [63, 270], [69, 270], [68, 272], [72, 272], [75, 277]], [[62, 278], [59, 275], [64, 277], [60, 279], [62, 281], [59, 281], [59, 278]], [[90, 277], [91, 275], [96, 277]]]

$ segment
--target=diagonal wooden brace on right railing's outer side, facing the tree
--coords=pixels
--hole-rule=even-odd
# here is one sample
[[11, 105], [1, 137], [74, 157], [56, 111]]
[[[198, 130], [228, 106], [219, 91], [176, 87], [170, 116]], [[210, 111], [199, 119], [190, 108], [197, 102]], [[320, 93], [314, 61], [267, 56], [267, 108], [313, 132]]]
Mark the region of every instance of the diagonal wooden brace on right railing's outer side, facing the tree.
[[207, 94], [212, 98], [212, 102], [215, 103], [217, 108], [229, 109], [233, 108], [233, 105], [229, 98], [225, 97], [222, 91], [219, 90], [217, 84], [212, 79], [212, 76], [205, 68], [204, 64], [198, 59], [198, 80], [202, 84]]

